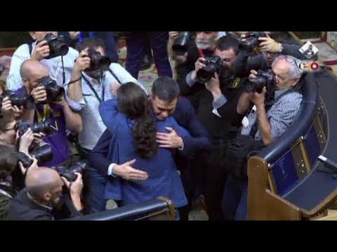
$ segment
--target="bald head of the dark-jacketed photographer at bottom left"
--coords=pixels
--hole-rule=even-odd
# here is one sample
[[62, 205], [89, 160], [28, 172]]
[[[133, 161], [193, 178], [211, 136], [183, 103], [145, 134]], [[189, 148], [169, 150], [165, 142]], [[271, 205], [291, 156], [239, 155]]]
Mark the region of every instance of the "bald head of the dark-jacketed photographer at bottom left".
[[[34, 200], [46, 200], [46, 194], [52, 198], [54, 193], [60, 193], [62, 190], [63, 181], [53, 169], [40, 167], [27, 172], [26, 190]], [[59, 195], [54, 195], [59, 196]]]

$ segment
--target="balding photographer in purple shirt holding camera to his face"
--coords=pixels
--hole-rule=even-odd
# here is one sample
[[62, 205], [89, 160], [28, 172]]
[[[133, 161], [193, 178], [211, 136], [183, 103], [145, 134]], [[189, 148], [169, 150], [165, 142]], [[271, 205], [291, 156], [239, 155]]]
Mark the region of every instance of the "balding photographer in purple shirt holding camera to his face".
[[51, 145], [53, 160], [43, 165], [47, 167], [62, 165], [70, 160], [66, 130], [81, 132], [81, 116], [70, 109], [65, 101], [65, 91], [56, 85], [55, 80], [49, 78], [46, 66], [29, 59], [22, 63], [20, 73], [24, 87], [15, 92], [21, 97], [32, 96], [35, 103], [34, 107], [22, 108], [22, 119], [28, 123], [44, 122], [44, 125], [48, 125], [44, 127], [46, 130], [53, 129], [53, 134], [44, 139]]

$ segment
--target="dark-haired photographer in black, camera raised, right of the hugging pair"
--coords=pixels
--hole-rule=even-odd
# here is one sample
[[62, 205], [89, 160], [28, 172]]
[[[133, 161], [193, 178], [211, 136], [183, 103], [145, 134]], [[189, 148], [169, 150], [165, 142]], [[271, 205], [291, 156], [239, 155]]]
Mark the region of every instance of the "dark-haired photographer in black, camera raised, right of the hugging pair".
[[[197, 116], [211, 135], [213, 153], [209, 160], [199, 160], [196, 165], [207, 167], [205, 200], [210, 220], [222, 220], [220, 200], [226, 174], [220, 167], [223, 142], [235, 137], [242, 117], [246, 113], [239, 105], [244, 79], [234, 76], [233, 65], [239, 52], [239, 41], [223, 36], [217, 41], [215, 56], [200, 57], [194, 71], [186, 76], [190, 89], [197, 87]], [[205, 64], [206, 63], [206, 64]], [[181, 84], [181, 83], [180, 83]]]

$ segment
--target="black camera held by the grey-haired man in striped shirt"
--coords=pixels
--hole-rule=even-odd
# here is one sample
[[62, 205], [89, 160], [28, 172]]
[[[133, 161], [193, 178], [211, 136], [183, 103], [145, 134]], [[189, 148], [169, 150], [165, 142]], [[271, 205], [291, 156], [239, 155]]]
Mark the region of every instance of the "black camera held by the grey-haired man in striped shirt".
[[245, 91], [246, 92], [258, 92], [261, 93], [263, 87], [267, 88], [267, 94], [270, 94], [275, 90], [275, 73], [269, 69], [266, 71], [259, 70], [256, 78], [249, 78], [246, 82]]

